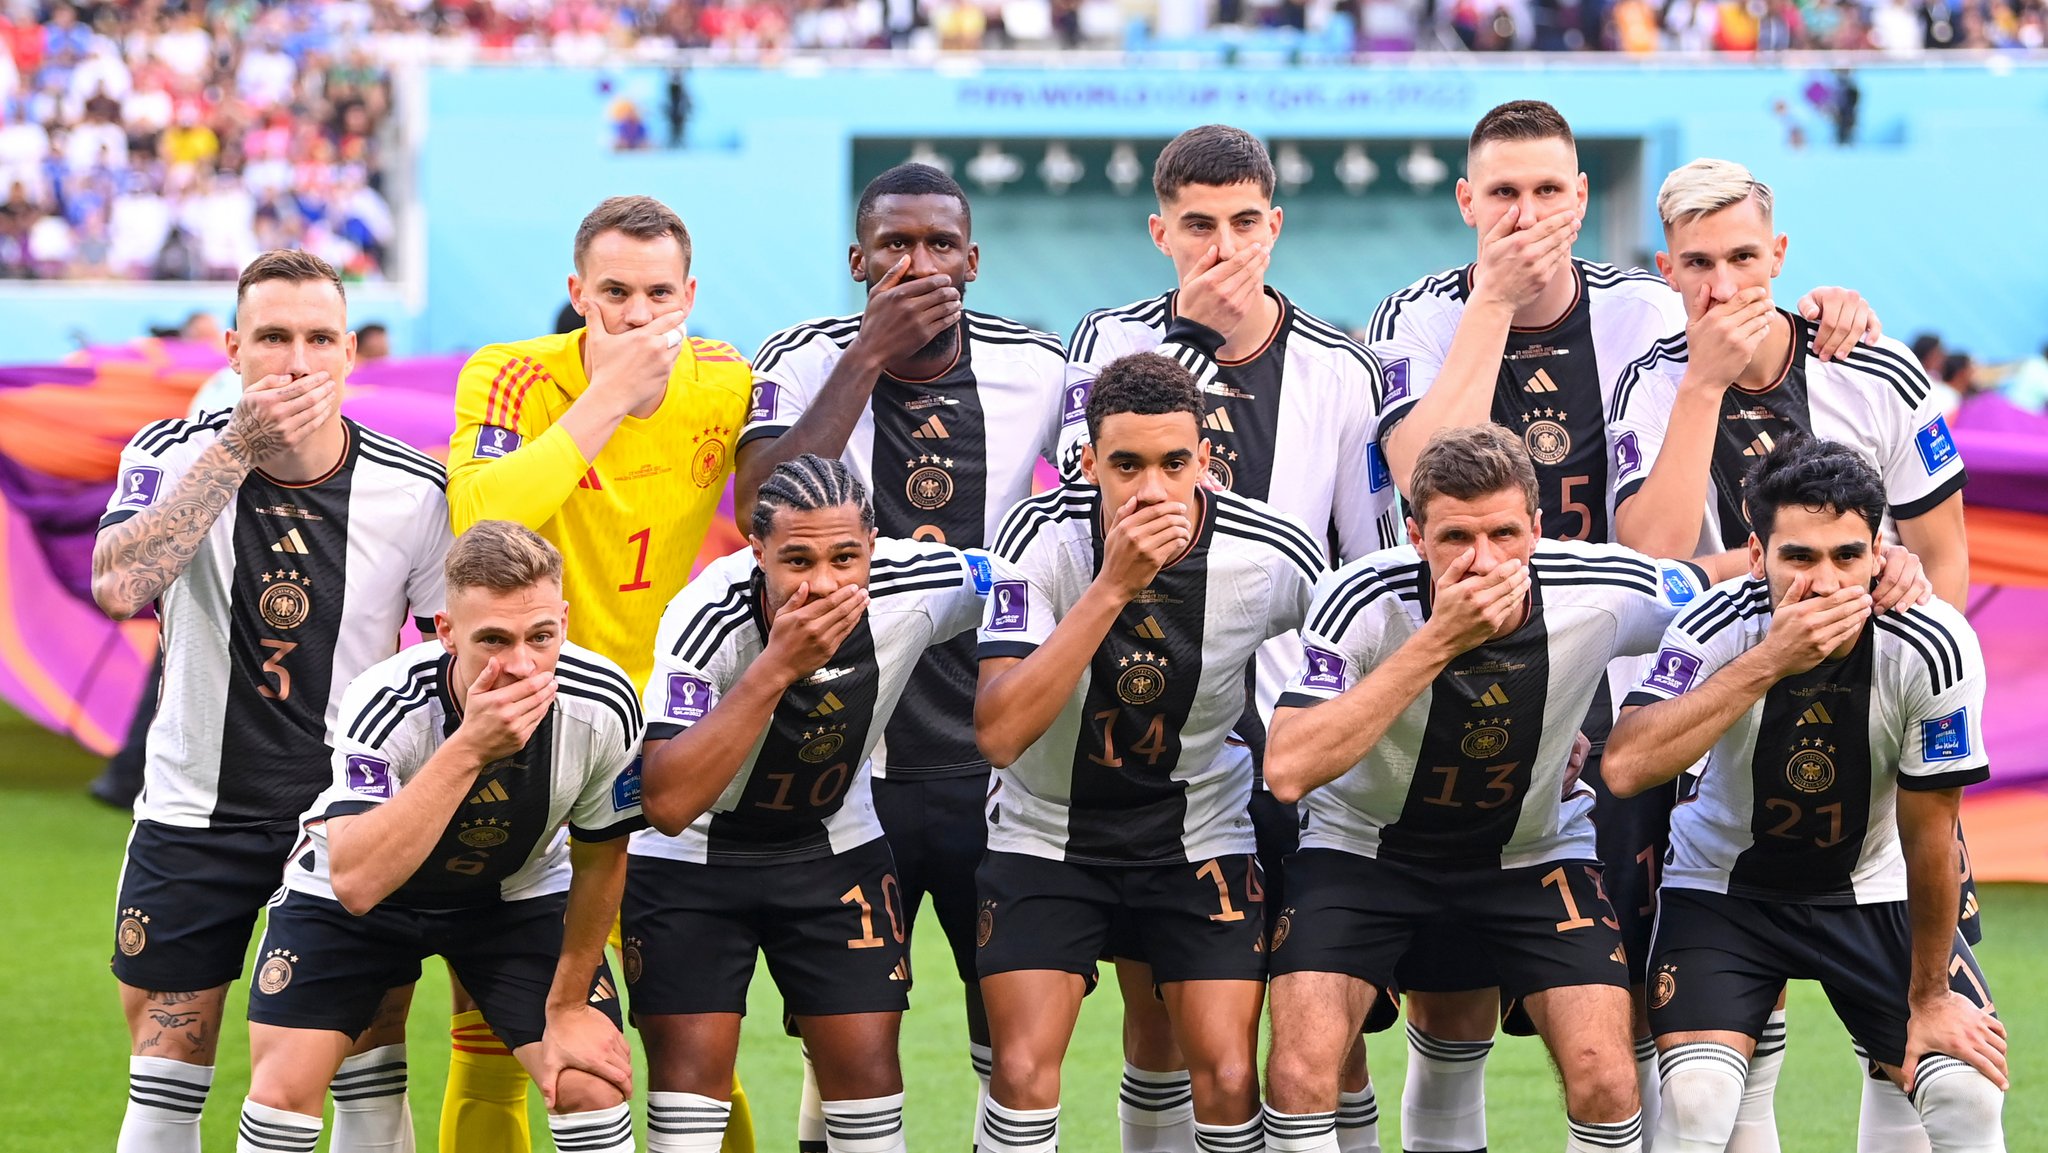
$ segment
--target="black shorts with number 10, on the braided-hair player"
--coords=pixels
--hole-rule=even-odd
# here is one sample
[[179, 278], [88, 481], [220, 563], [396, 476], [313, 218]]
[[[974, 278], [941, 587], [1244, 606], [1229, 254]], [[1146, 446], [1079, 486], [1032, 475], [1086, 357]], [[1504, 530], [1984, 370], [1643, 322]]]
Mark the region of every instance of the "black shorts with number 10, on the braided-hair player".
[[633, 1016], [745, 1014], [756, 954], [799, 1016], [909, 1008], [889, 842], [786, 864], [627, 858], [618, 915]]

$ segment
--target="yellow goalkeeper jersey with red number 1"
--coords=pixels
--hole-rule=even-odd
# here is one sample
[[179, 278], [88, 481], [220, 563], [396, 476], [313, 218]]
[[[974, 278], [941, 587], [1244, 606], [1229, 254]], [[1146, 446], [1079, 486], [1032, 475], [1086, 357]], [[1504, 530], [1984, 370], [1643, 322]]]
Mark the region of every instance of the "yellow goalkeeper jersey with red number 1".
[[692, 336], [662, 408], [647, 420], [627, 416], [588, 461], [555, 424], [590, 387], [582, 338], [492, 344], [463, 365], [449, 508], [457, 532], [516, 520], [553, 541], [569, 639], [645, 688], [655, 625], [688, 582], [731, 477], [752, 371], [731, 344]]

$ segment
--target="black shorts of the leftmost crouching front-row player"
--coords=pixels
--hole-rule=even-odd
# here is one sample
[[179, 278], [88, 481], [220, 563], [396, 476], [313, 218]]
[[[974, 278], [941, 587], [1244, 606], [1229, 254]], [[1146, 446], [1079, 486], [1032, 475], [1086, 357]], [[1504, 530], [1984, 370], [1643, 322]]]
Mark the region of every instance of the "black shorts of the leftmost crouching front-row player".
[[[360, 1036], [387, 989], [412, 985], [422, 960], [442, 956], [508, 1049], [532, 1044], [547, 1026], [567, 907], [567, 893], [549, 893], [469, 909], [379, 905], [356, 917], [338, 901], [287, 889], [258, 946], [250, 1020]], [[618, 987], [602, 960], [590, 1003], [621, 1022]]]

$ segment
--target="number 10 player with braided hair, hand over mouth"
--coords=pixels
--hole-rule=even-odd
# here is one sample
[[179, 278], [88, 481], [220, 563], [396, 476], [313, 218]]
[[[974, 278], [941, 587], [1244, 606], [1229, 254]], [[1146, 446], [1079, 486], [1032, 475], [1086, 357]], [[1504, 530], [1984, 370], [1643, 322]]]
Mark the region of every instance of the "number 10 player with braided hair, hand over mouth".
[[647, 817], [625, 971], [647, 1042], [649, 1153], [711, 1151], [756, 954], [817, 1069], [831, 1153], [903, 1149], [903, 897], [868, 754], [926, 649], [981, 623], [987, 557], [874, 539], [838, 459], [776, 465], [752, 549], [713, 561], [655, 633]]

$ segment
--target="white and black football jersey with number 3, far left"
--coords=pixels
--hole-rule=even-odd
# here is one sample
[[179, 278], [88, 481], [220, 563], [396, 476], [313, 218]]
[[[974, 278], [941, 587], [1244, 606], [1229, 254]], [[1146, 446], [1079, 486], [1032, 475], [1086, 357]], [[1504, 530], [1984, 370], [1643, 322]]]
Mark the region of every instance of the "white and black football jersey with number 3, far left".
[[[160, 420], [121, 451], [100, 530], [170, 498], [229, 412]], [[342, 692], [442, 608], [449, 500], [438, 461], [342, 420], [332, 473], [252, 471], [158, 598], [164, 696], [137, 819], [289, 827], [328, 784]]]

